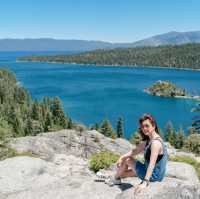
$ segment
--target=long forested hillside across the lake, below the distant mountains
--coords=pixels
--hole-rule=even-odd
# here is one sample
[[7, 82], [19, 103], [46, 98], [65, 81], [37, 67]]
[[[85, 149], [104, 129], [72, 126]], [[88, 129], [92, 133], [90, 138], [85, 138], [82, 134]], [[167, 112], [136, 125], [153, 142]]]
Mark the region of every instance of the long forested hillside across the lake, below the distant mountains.
[[200, 44], [100, 49], [78, 55], [30, 56], [19, 61], [200, 69]]

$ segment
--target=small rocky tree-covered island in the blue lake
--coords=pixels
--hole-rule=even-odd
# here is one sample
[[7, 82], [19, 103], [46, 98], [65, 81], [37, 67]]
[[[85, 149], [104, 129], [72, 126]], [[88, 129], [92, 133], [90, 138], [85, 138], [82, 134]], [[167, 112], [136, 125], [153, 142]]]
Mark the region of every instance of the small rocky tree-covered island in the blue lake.
[[151, 87], [145, 88], [144, 92], [160, 97], [174, 97], [200, 100], [200, 96], [191, 95], [185, 89], [179, 88], [176, 85], [170, 83], [169, 81], [159, 80], [155, 82]]

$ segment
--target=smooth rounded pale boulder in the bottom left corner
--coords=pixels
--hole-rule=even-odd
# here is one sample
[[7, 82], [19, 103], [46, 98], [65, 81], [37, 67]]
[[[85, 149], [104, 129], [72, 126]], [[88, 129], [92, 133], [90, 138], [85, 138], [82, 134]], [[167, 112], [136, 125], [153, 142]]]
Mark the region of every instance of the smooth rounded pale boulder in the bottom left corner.
[[39, 158], [14, 157], [0, 161], [0, 193], [11, 193], [44, 186], [58, 178], [51, 175], [52, 165]]

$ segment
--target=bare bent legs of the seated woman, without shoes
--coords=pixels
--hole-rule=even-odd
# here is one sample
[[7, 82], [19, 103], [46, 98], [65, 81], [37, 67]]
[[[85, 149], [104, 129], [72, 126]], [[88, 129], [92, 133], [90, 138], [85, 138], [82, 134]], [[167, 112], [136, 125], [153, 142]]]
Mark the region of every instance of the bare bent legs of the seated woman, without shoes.
[[[130, 169], [131, 168], [131, 169]], [[116, 177], [126, 178], [126, 177], [134, 177], [136, 175], [135, 171], [135, 159], [127, 158], [120, 167], [117, 168]]]

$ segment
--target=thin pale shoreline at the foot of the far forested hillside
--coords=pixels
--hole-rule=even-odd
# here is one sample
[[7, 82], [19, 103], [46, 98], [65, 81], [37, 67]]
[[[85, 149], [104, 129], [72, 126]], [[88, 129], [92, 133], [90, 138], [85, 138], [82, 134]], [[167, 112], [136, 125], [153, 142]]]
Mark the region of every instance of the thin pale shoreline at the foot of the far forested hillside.
[[196, 71], [196, 72], [200, 72], [200, 68], [199, 69], [194, 69], [194, 68], [178, 68], [178, 67], [169, 67], [169, 66], [136, 66], [136, 65], [117, 65], [117, 64], [104, 64], [104, 65], [100, 65], [100, 64], [83, 64], [83, 63], [71, 63], [71, 62], [55, 62], [55, 61], [28, 61], [28, 60], [16, 60], [16, 62], [39, 62], [39, 63], [49, 63], [49, 64], [72, 64], [72, 65], [83, 65], [83, 66], [101, 66], [101, 67], [128, 67], [128, 68], [152, 68], [152, 69], [170, 69], [170, 70], [186, 70], [186, 71]]

